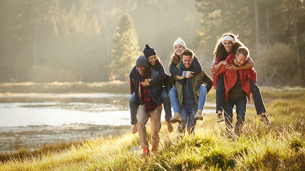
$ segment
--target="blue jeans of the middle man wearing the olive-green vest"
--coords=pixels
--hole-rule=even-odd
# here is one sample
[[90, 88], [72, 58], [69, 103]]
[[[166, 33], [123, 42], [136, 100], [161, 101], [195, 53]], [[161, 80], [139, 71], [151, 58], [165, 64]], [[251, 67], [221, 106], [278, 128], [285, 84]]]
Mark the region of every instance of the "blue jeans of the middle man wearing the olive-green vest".
[[[196, 105], [188, 106], [182, 104], [180, 114], [183, 118], [183, 122], [178, 125], [178, 133], [184, 133], [185, 127], [188, 131], [188, 134], [192, 134], [194, 132], [197, 120], [194, 118], [197, 112]], [[183, 125], [183, 126], [182, 126]]]

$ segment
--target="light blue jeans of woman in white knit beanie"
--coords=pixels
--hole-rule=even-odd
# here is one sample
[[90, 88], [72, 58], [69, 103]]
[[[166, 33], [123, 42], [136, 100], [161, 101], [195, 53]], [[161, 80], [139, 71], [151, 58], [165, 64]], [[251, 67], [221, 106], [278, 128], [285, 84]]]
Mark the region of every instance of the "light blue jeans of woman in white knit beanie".
[[[200, 93], [200, 97], [198, 100], [198, 110], [203, 110], [204, 104], [206, 103], [206, 94], [207, 94], [207, 89], [205, 85], [199, 85], [199, 93]], [[170, 95], [170, 103], [173, 106], [173, 110], [174, 113], [179, 112], [179, 103], [178, 103], [178, 99], [177, 99], [177, 89], [176, 86], [172, 87], [169, 91], [169, 95]], [[165, 107], [164, 107], [165, 108]]]

